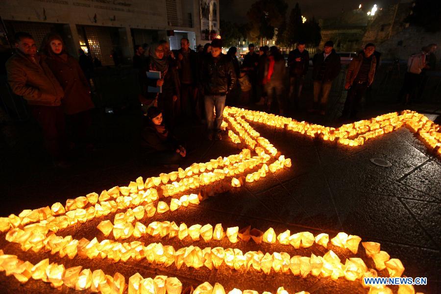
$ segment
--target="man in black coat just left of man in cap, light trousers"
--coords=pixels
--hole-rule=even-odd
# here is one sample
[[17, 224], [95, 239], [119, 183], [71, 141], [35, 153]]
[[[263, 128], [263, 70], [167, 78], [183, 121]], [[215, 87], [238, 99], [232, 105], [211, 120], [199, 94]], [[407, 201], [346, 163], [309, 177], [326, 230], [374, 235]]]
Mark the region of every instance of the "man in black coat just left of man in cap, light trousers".
[[305, 42], [298, 42], [297, 48], [290, 52], [288, 66], [290, 67], [290, 101], [292, 106], [297, 108], [309, 67], [309, 52], [305, 49]]

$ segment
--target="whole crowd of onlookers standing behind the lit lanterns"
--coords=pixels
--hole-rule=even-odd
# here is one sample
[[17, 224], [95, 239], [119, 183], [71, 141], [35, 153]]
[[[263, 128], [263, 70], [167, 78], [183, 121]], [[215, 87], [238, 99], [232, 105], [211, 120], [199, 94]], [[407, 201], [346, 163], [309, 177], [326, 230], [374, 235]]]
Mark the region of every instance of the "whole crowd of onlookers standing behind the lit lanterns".
[[[38, 53], [34, 39], [25, 32], [15, 35], [15, 47], [16, 53], [6, 63], [9, 85], [27, 100], [54, 164], [63, 167], [67, 150], [93, 148], [88, 136], [90, 110], [94, 108], [87, 76], [91, 60], [80, 52], [76, 61], [54, 33], [45, 37]], [[435, 68], [436, 48], [431, 44], [409, 58], [400, 91], [405, 103], [417, 99], [418, 87], [427, 80], [426, 72]], [[171, 165], [179, 164], [187, 154], [185, 144], [172, 133], [177, 123], [205, 121], [206, 138], [219, 141], [225, 103], [240, 107], [254, 103], [284, 115], [298, 108], [310, 68], [304, 42], [298, 42], [289, 52], [288, 68], [276, 46], [262, 46], [256, 52], [250, 44], [241, 64], [236, 47], [222, 53], [220, 39], [199, 45], [196, 51], [190, 49], [187, 38], [181, 39], [179, 50], [171, 50], [170, 44], [162, 40], [135, 45], [134, 51], [133, 68], [139, 71], [138, 99], [145, 114], [141, 135], [144, 154], [150, 162]], [[369, 43], [348, 65], [342, 120], [358, 119], [360, 101], [371, 90], [379, 59], [380, 53]], [[342, 69], [332, 41], [313, 56], [312, 64], [313, 99], [308, 111], [325, 115], [332, 83]]]

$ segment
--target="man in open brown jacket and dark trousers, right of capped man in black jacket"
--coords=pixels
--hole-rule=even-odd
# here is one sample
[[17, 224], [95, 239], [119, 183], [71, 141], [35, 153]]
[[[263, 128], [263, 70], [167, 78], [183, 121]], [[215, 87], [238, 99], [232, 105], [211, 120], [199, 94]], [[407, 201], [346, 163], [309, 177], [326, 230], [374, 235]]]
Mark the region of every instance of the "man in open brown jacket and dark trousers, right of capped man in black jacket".
[[344, 88], [347, 91], [346, 102], [344, 103], [342, 119], [348, 116], [350, 119], [356, 119], [358, 104], [365, 95], [368, 86], [374, 80], [376, 58], [373, 55], [375, 45], [368, 43], [363, 52], [352, 59], [346, 72], [346, 84]]

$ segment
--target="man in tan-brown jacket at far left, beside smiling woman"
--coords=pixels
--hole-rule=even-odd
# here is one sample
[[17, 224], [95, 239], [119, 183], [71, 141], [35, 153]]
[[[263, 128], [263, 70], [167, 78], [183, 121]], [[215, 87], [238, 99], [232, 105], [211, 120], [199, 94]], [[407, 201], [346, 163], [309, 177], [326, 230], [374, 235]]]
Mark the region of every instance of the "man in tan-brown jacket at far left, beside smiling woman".
[[37, 55], [32, 36], [25, 32], [15, 35], [16, 53], [6, 62], [7, 79], [12, 91], [23, 96], [30, 111], [43, 130], [45, 146], [55, 165], [62, 165], [65, 143], [65, 121], [61, 107], [64, 96], [57, 79]]

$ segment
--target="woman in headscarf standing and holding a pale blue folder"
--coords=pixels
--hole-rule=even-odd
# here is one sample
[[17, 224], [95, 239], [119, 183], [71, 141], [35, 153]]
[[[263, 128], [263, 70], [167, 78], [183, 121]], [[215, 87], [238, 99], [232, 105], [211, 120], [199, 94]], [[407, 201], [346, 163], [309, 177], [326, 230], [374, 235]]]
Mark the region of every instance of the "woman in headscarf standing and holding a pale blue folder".
[[[147, 92], [147, 99], [157, 100], [158, 108], [164, 114], [164, 120], [169, 127], [174, 126], [174, 105], [177, 101], [177, 84], [174, 68], [170, 59], [165, 56], [165, 49], [159, 44], [153, 44], [149, 48], [149, 57], [146, 68], [141, 71], [144, 87], [162, 87], [161, 93]], [[146, 72], [160, 72], [160, 79], [147, 78]]]

